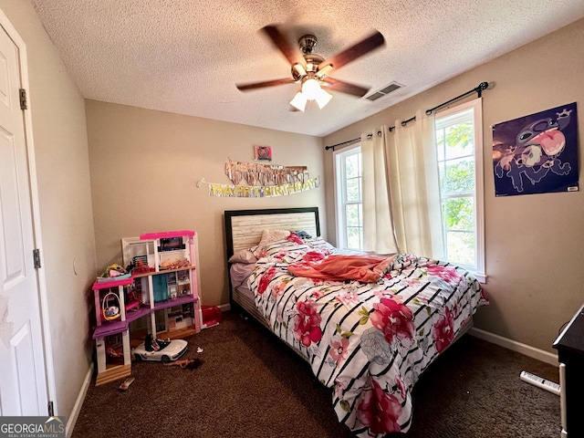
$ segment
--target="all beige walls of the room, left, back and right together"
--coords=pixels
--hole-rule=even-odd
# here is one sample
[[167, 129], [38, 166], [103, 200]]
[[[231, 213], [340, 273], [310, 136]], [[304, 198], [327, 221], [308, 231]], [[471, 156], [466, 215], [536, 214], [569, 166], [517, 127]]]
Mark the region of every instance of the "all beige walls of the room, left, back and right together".
[[[551, 350], [558, 329], [579, 308], [584, 296], [579, 285], [582, 194], [495, 198], [488, 127], [581, 100], [584, 21], [339, 130], [323, 143], [315, 137], [84, 101], [32, 6], [0, 0], [0, 9], [26, 42], [59, 415], [73, 411], [89, 369], [93, 341], [88, 289], [100, 270], [120, 261], [122, 236], [195, 229], [200, 235], [203, 304], [224, 304], [224, 210], [317, 205], [323, 235], [334, 240], [331, 151], [323, 152], [323, 144], [409, 118], [415, 110], [433, 107], [485, 80], [496, 82], [495, 89], [485, 92], [484, 102], [485, 290], [491, 306], [482, 309], [476, 325]], [[321, 187], [259, 200], [212, 198], [196, 188], [203, 177], [227, 183], [225, 160], [251, 162], [254, 144], [272, 146], [275, 164], [308, 165], [312, 176], [322, 178]], [[580, 167], [581, 161], [580, 154]]]

